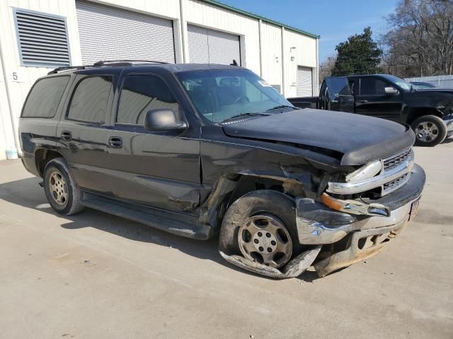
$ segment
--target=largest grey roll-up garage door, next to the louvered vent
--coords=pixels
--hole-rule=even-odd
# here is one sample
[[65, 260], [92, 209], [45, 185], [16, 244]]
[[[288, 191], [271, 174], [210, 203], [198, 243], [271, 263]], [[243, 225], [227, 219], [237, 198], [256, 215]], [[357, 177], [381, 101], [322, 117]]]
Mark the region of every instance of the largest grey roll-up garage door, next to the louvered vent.
[[136, 59], [175, 62], [173, 23], [144, 14], [76, 1], [84, 64]]

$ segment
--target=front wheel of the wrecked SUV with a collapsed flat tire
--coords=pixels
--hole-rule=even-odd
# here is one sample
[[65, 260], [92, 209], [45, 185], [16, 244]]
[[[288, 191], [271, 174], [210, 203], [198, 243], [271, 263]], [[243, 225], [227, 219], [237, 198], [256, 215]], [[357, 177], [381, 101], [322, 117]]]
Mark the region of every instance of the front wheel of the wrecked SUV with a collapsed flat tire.
[[219, 249], [273, 268], [285, 266], [300, 251], [294, 201], [269, 190], [241, 196], [225, 213]]

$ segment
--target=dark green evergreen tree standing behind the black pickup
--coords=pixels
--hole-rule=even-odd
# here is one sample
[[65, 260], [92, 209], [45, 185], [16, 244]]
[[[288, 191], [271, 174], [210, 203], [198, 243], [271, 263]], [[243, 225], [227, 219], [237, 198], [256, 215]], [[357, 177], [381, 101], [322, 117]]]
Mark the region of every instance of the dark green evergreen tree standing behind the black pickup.
[[348, 37], [348, 40], [337, 45], [338, 52], [333, 76], [351, 74], [380, 73], [379, 68], [382, 50], [372, 40], [371, 28], [367, 27], [362, 34]]

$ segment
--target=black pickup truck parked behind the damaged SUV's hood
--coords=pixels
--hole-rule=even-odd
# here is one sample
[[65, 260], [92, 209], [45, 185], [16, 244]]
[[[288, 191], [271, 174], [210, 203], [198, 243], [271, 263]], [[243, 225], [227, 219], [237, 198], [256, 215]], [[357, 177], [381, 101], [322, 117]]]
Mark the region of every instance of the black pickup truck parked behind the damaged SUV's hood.
[[453, 90], [415, 89], [396, 76], [328, 77], [319, 97], [292, 97], [297, 107], [351, 112], [411, 125], [418, 145], [434, 146], [453, 134]]

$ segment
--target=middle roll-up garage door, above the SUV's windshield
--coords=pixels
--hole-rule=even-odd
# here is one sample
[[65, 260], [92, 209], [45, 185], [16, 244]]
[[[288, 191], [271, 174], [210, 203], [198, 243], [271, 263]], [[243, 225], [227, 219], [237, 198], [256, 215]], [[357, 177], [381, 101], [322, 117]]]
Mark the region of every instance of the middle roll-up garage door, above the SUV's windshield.
[[239, 35], [188, 25], [189, 61], [195, 63], [241, 64]]

